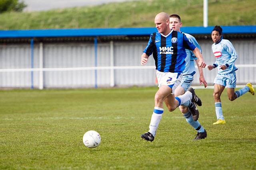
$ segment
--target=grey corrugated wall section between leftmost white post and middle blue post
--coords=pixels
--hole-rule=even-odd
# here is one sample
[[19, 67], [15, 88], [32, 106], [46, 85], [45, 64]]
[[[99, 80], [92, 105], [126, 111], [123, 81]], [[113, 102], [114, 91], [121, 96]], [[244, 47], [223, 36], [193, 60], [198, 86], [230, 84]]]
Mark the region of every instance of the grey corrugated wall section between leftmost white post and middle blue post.
[[[92, 44], [45, 44], [44, 68], [72, 68], [94, 66]], [[94, 70], [46, 71], [45, 88], [90, 87], [94, 84]]]

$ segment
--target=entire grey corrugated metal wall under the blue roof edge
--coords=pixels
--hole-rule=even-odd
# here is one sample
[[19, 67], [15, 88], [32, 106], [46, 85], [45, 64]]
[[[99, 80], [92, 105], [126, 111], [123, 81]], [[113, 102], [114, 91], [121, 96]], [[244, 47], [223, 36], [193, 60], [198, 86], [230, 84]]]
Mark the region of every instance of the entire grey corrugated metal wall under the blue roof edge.
[[[230, 39], [237, 53], [236, 64], [256, 64], [256, 39]], [[210, 39], [198, 40], [206, 64], [215, 60], [211, 51]], [[140, 66], [140, 56], [147, 41], [113, 43], [114, 66]], [[44, 68], [72, 68], [111, 66], [110, 43], [98, 43], [97, 61], [94, 57], [93, 43], [48, 43], [43, 45]], [[30, 45], [0, 45], [0, 69], [31, 68]], [[151, 56], [147, 66], [154, 66]], [[39, 68], [39, 44], [34, 45], [34, 68]], [[212, 85], [217, 70], [204, 69], [204, 75], [209, 85]], [[237, 84], [256, 83], [256, 68], [239, 68], [236, 71]], [[97, 80], [95, 78], [97, 77]], [[39, 73], [33, 72], [33, 84], [39, 86]], [[196, 73], [193, 85], [198, 84]], [[109, 87], [111, 85], [111, 70], [76, 70], [76, 71], [45, 71], [44, 88], [81, 88]], [[31, 72], [0, 72], [0, 87], [30, 88]], [[114, 70], [115, 86], [152, 86], [155, 84], [154, 69], [118, 69]]]

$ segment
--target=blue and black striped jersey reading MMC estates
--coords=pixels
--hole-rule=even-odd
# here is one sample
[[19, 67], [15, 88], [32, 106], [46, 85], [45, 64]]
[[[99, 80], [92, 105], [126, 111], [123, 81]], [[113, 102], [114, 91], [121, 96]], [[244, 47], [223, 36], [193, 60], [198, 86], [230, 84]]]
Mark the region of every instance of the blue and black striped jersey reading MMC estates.
[[156, 70], [182, 73], [187, 56], [185, 49], [193, 51], [195, 48], [186, 35], [172, 29], [168, 35], [152, 33], [143, 52], [148, 56], [153, 53]]

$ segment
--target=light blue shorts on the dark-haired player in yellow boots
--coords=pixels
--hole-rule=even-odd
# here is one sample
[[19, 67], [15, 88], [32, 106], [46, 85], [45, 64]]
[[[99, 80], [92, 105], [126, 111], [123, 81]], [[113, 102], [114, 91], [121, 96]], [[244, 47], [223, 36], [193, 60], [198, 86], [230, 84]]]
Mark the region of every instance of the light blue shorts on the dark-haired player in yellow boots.
[[213, 84], [220, 84], [227, 88], [236, 88], [236, 72], [230, 72], [228, 74], [217, 74]]

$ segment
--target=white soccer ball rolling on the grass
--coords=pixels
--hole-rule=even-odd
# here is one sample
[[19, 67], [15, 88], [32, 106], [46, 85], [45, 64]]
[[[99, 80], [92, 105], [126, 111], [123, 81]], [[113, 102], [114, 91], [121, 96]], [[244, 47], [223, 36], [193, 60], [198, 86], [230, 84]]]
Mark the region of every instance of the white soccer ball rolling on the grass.
[[83, 142], [84, 145], [88, 148], [95, 148], [100, 145], [101, 137], [100, 134], [96, 131], [87, 131], [84, 133]]

